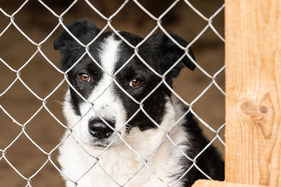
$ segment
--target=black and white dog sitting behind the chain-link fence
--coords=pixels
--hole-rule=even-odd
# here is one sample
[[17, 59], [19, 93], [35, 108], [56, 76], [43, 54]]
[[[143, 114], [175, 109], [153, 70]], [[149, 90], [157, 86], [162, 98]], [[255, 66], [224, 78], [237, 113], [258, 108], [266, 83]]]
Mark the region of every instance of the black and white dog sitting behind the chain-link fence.
[[[100, 32], [89, 20], [78, 20], [67, 28], [85, 45]], [[128, 32], [119, 34], [133, 46], [143, 40]], [[181, 46], [187, 46], [179, 36], [169, 34]], [[65, 30], [55, 40], [54, 47], [62, 55], [63, 71], [70, 69], [85, 52]], [[89, 52], [98, 64], [85, 55], [68, 72], [70, 83], [89, 102], [71, 87], [65, 95], [63, 112], [72, 128], [72, 137], [60, 146], [58, 161], [65, 176], [72, 180], [65, 179], [67, 187], [74, 186], [73, 181], [79, 187], [118, 186], [117, 183], [191, 186], [196, 179], [206, 178], [194, 163], [212, 179], [223, 180], [224, 165], [214, 147], [207, 148], [195, 162], [186, 157], [195, 158], [208, 143], [191, 113], [169, 130], [187, 109], [164, 83], [158, 85], [162, 78], [136, 56], [122, 67], [134, 54], [133, 48], [114, 32], [104, 32], [89, 46]], [[163, 32], [150, 36], [138, 48], [138, 54], [158, 74], [164, 74], [183, 53]], [[191, 51], [189, 54], [193, 57]], [[165, 81], [170, 86], [183, 64], [195, 69], [195, 64], [183, 57], [166, 74]], [[98, 157], [96, 165], [94, 157]]]

